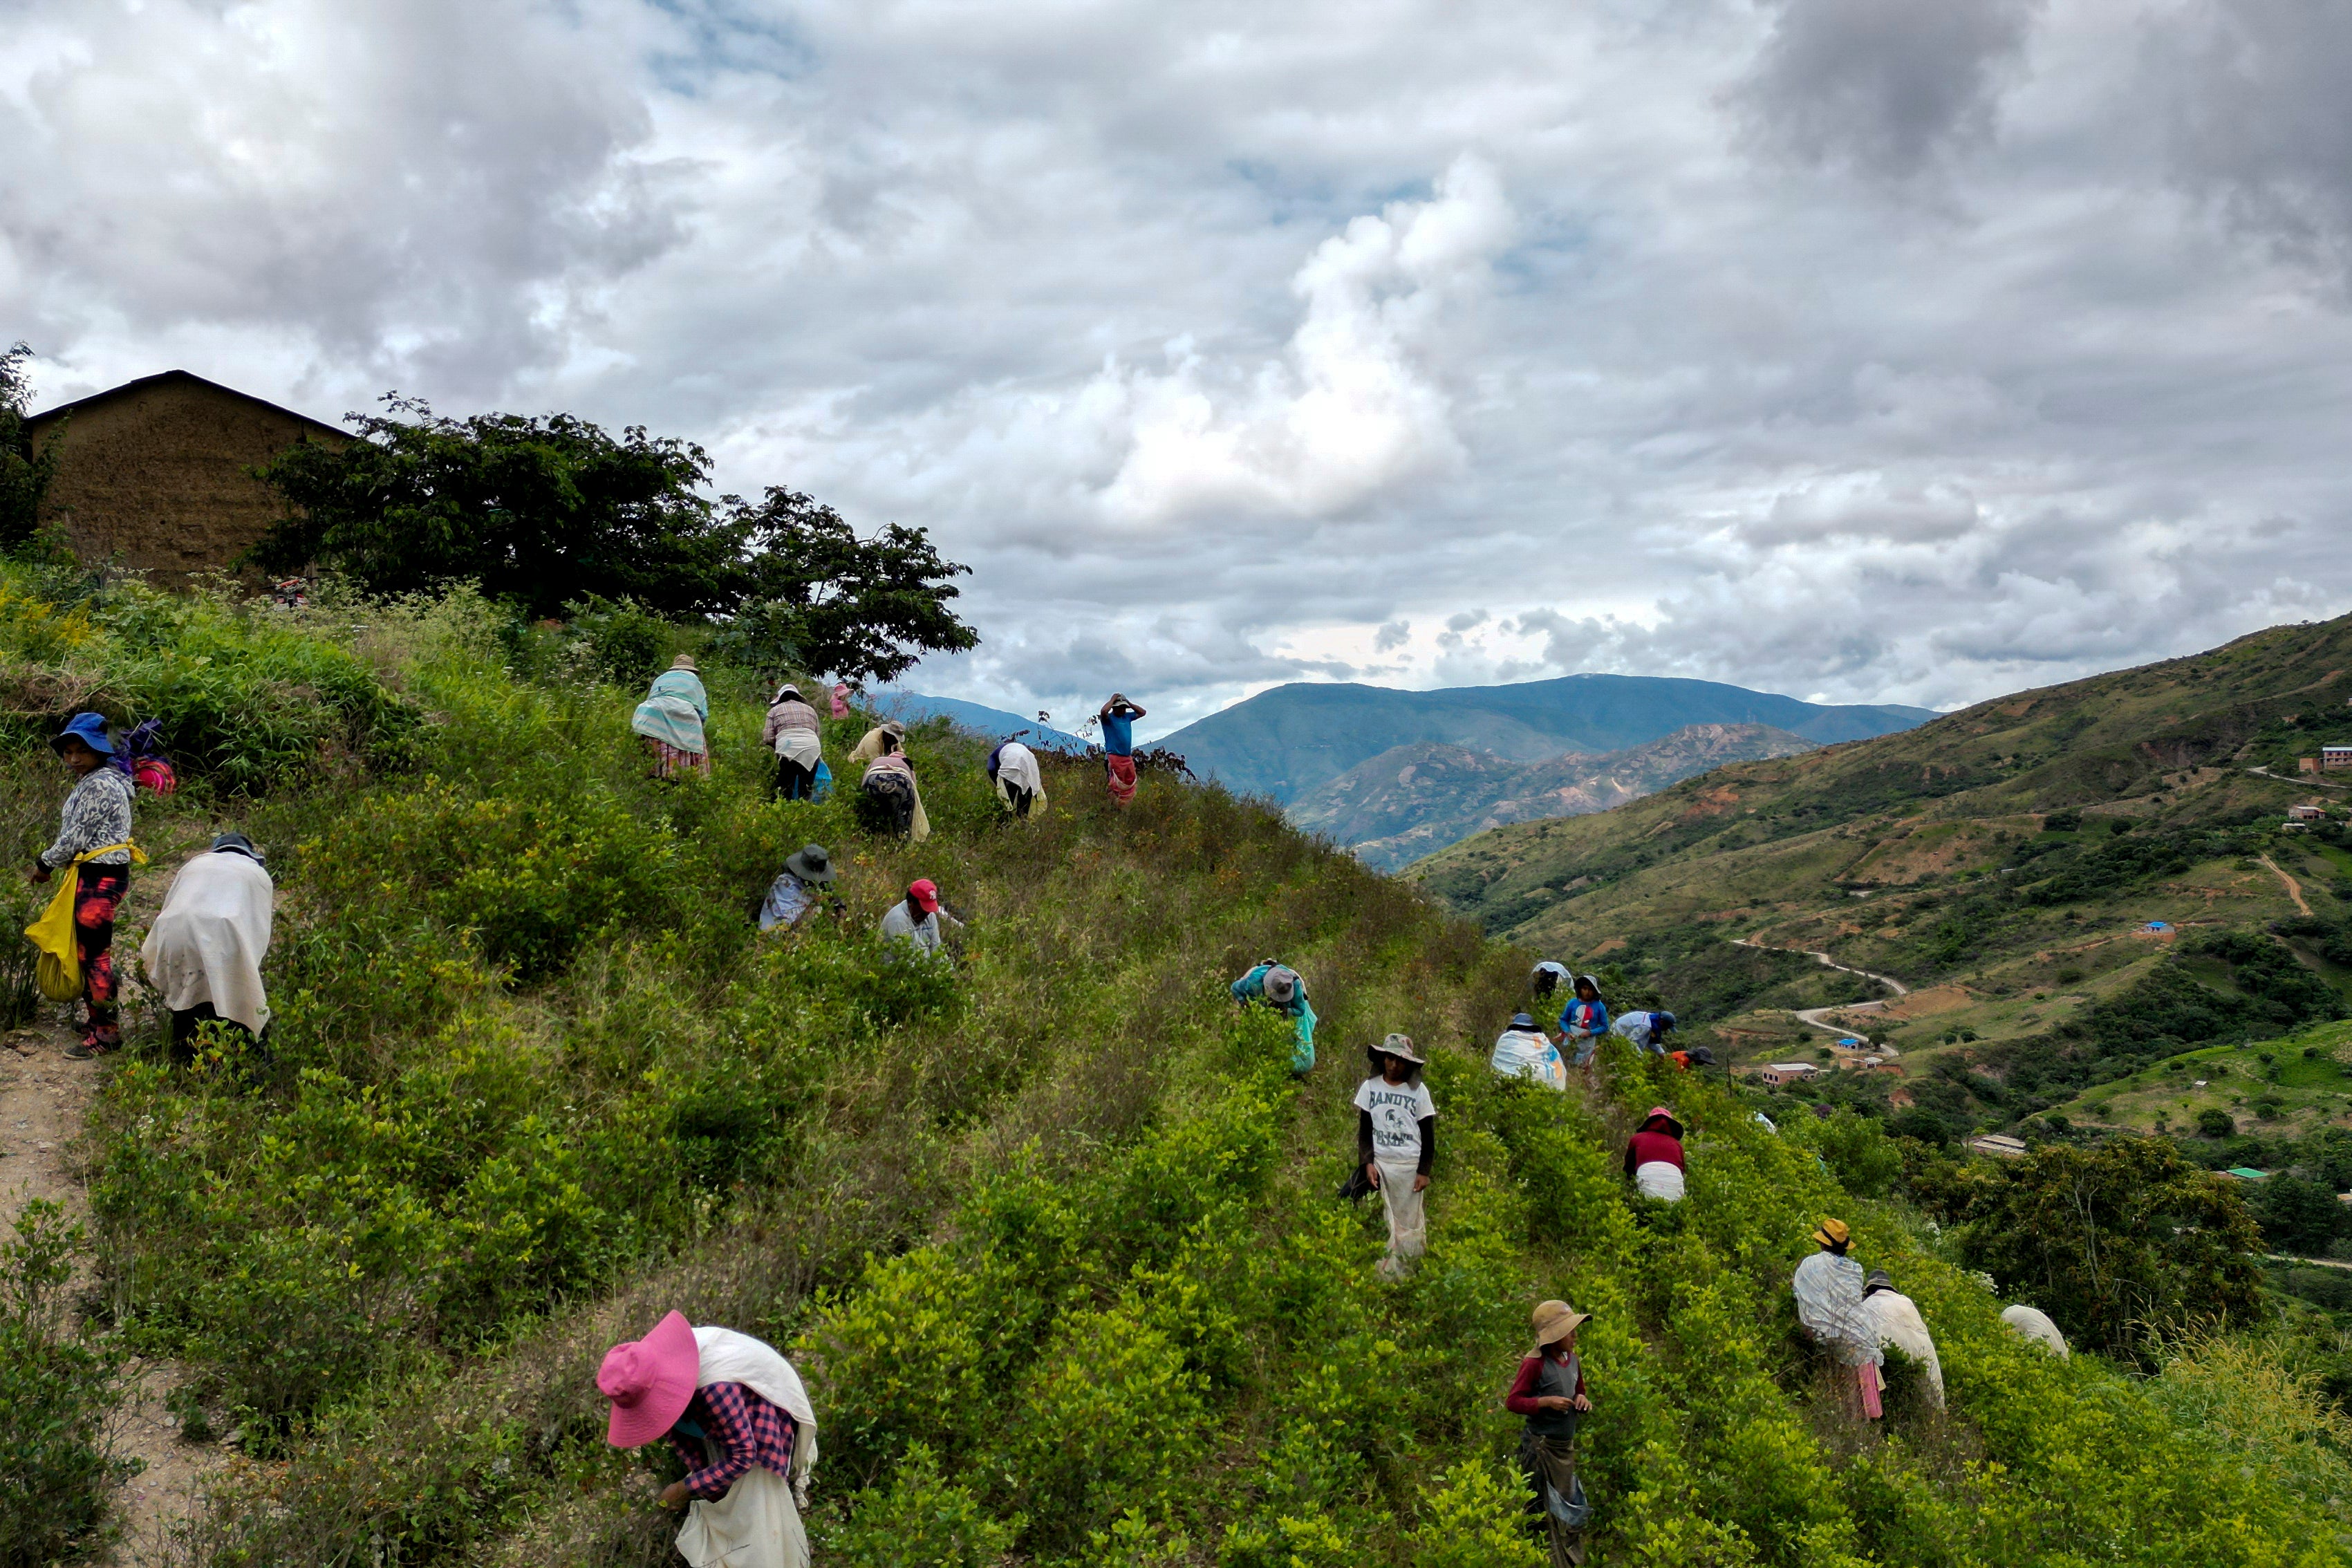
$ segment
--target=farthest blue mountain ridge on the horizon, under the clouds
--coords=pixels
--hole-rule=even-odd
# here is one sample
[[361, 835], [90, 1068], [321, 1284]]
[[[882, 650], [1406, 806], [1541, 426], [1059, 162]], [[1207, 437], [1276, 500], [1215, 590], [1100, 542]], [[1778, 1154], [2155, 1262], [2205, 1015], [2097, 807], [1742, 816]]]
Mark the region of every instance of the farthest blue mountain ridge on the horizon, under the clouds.
[[1616, 752], [1686, 724], [1771, 724], [1806, 741], [1884, 736], [1926, 708], [1802, 703], [1771, 691], [1646, 675], [1569, 675], [1512, 686], [1395, 691], [1291, 684], [1261, 691], [1162, 741], [1202, 778], [1291, 802], [1397, 745], [1432, 743], [1519, 762]]

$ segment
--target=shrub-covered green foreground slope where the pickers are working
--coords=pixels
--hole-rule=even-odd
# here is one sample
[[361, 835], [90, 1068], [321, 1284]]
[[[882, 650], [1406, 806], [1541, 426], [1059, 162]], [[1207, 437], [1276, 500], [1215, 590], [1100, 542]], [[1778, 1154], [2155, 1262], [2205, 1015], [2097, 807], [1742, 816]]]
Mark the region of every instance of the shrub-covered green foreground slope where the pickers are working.
[[[287, 616], [0, 585], [19, 851], [64, 788], [56, 708], [96, 703], [160, 717], [188, 771], [141, 797], [155, 865], [118, 952], [221, 825], [282, 891], [268, 1048], [176, 1067], [134, 1009], [92, 1070], [85, 1286], [31, 1288], [52, 1251], [0, 1260], [0, 1561], [96, 1540], [80, 1455], [127, 1349], [209, 1455], [155, 1561], [675, 1561], [652, 1505], [675, 1460], [604, 1446], [593, 1373], [680, 1307], [807, 1373], [826, 1566], [1534, 1568], [1498, 1399], [1545, 1295], [1595, 1314], [1597, 1563], [2345, 1556], [2343, 1413], [2272, 1340], [2053, 1361], [1875, 1126], [1776, 1133], [1621, 1046], [1590, 1093], [1491, 1077], [1526, 952], [1263, 804], [1155, 773], [1115, 811], [1049, 759], [1018, 825], [983, 743], [931, 724], [936, 837], [880, 842], [840, 799], [764, 797], [757, 686], [717, 661], [715, 776], [656, 785], [628, 736], [642, 649], [576, 628], [468, 595]], [[760, 938], [750, 903], [804, 839], [837, 851], [849, 919]], [[870, 936], [915, 875], [969, 922], [953, 969]], [[1305, 1079], [1225, 997], [1268, 952], [1324, 1018]], [[1430, 1046], [1442, 1126], [1430, 1253], [1397, 1284], [1376, 1206], [1334, 1199], [1388, 1030]], [[1677, 1208], [1616, 1171], [1661, 1098], [1693, 1128]], [[1837, 1413], [1788, 1293], [1825, 1213], [1922, 1305], [1950, 1410], [1898, 1368], [1884, 1432]]]

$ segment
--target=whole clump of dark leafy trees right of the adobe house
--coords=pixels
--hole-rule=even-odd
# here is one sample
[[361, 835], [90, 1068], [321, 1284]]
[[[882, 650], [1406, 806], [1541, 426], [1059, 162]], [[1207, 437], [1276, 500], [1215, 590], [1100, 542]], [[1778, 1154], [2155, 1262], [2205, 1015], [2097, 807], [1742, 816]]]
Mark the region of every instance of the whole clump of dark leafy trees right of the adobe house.
[[287, 515], [249, 552], [266, 571], [329, 564], [369, 592], [473, 581], [532, 618], [574, 604], [729, 621], [722, 651], [891, 679], [978, 635], [955, 618], [924, 529], [861, 538], [840, 512], [774, 487], [757, 503], [701, 484], [701, 447], [619, 437], [572, 414], [442, 418], [388, 395], [348, 416], [355, 442], [292, 447], [259, 470]]

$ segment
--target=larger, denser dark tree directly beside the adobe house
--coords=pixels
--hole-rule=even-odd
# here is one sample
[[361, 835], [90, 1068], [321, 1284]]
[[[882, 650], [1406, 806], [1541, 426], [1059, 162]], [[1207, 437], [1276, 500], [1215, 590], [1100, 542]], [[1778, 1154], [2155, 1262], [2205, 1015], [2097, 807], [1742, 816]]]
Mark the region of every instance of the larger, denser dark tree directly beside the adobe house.
[[369, 592], [475, 581], [532, 616], [588, 597], [706, 616], [741, 597], [739, 541], [696, 494], [710, 473], [701, 447], [640, 425], [616, 440], [572, 414], [383, 404], [346, 416], [360, 440], [289, 447], [259, 470], [289, 510], [254, 564], [322, 562]]

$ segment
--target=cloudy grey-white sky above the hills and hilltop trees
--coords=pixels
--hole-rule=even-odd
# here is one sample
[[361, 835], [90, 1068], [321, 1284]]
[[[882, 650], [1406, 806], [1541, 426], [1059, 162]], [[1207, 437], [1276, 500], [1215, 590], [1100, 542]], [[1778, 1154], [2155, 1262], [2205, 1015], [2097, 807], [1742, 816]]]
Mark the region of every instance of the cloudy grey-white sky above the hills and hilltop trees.
[[694, 437], [1009, 708], [2352, 609], [2345, 0], [12, 0], [0, 146], [42, 402]]

